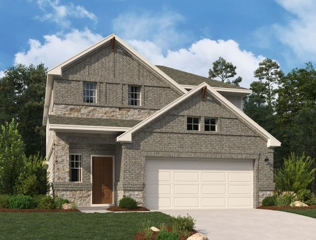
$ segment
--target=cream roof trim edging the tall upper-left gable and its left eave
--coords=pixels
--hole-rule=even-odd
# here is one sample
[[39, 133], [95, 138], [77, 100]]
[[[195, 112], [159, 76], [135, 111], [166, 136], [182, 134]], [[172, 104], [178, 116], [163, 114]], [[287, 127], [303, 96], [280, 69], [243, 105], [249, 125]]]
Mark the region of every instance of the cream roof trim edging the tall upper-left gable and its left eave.
[[162, 72], [158, 67], [156, 67], [154, 64], [149, 62], [146, 58], [144, 58], [142, 55], [140, 55], [137, 51], [135, 51], [132, 47], [130, 47], [126, 42], [118, 38], [115, 34], [111, 34], [110, 36], [106, 37], [105, 39], [95, 43], [94, 45], [88, 47], [84, 51], [80, 52], [79, 54], [71, 57], [70, 59], [66, 60], [65, 62], [53, 67], [52, 69], [48, 70], [47, 72], [47, 80], [46, 80], [46, 90], [45, 90], [45, 103], [44, 103], [44, 113], [43, 113], [43, 121], [42, 124], [46, 125], [47, 117], [48, 117], [48, 109], [51, 101], [51, 93], [53, 89], [53, 81], [54, 77], [61, 77], [62, 75], [62, 69], [71, 64], [72, 62], [78, 60], [81, 57], [84, 57], [85, 55], [89, 54], [94, 49], [100, 47], [103, 44], [106, 44], [109, 41], [115, 40], [118, 42], [127, 52], [129, 52], [131, 55], [133, 55], [136, 59], [138, 59], [140, 62], [142, 62], [145, 66], [147, 66], [149, 69], [156, 72], [162, 79], [166, 80], [170, 85], [172, 85], [175, 89], [177, 89], [181, 93], [186, 93], [187, 90], [184, 89], [181, 85], [179, 85], [175, 80], [171, 79], [168, 75], [166, 75], [164, 72]]

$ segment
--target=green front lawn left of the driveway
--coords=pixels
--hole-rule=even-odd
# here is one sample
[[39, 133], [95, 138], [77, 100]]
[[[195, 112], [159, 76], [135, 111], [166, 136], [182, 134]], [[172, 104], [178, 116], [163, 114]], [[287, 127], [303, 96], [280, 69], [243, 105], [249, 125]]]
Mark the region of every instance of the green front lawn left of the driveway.
[[161, 212], [0, 212], [0, 239], [133, 240], [139, 222], [170, 225], [170, 218]]

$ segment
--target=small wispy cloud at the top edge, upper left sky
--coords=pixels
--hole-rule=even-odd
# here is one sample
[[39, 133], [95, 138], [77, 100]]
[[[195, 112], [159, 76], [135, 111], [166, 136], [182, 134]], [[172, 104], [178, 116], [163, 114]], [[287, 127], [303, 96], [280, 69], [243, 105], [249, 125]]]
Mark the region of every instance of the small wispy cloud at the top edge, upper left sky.
[[59, 0], [37, 0], [36, 3], [44, 12], [42, 16], [37, 16], [37, 19], [57, 23], [62, 28], [71, 26], [71, 21], [68, 19], [70, 17], [89, 18], [95, 23], [97, 22], [97, 17], [92, 12], [82, 6], [75, 6], [73, 3], [61, 5]]

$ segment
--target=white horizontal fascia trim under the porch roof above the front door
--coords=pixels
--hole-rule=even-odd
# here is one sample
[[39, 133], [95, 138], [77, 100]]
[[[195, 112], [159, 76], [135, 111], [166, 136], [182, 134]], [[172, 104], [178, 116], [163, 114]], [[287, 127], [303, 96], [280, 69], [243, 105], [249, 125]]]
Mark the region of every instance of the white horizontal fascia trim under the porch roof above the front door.
[[49, 130], [51, 130], [51, 131], [125, 132], [125, 131], [128, 131], [130, 129], [131, 129], [131, 127], [49, 124]]

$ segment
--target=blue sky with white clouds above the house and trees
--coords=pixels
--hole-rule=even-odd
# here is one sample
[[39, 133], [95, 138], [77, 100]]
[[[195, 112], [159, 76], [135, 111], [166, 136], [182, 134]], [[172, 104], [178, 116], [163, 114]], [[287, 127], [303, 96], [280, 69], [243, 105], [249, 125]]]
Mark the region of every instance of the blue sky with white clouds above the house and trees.
[[208, 77], [221, 56], [249, 87], [265, 58], [316, 62], [316, 0], [0, 0], [0, 77], [48, 69], [115, 33], [155, 65]]

